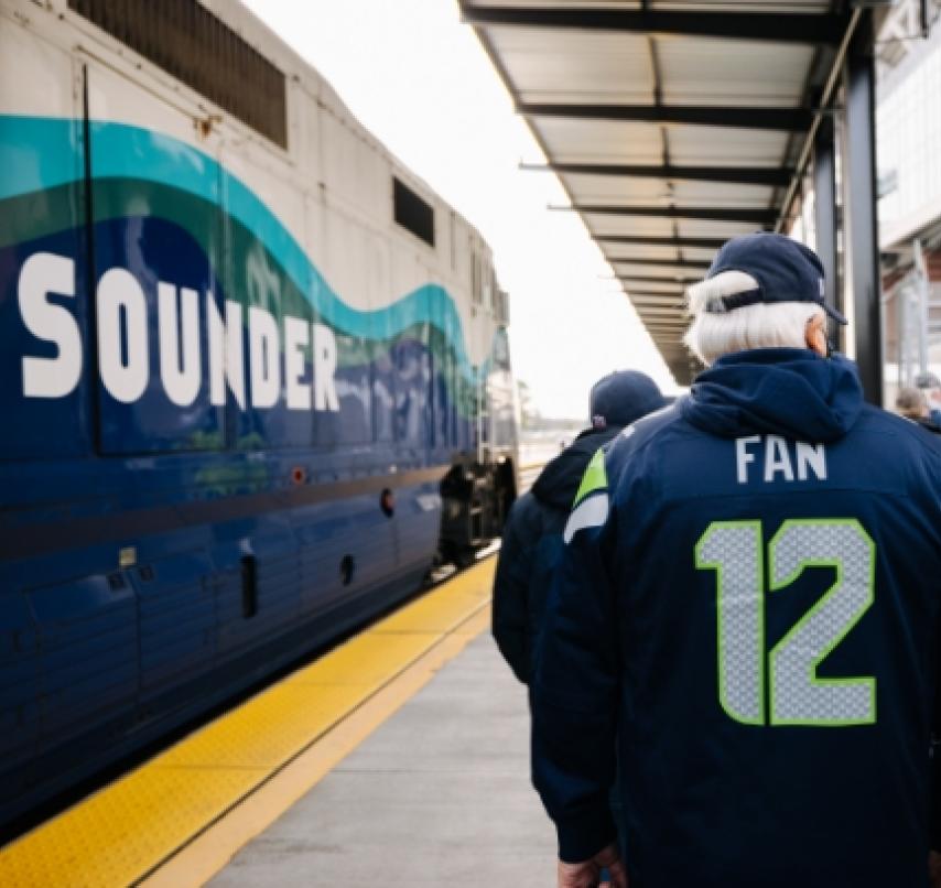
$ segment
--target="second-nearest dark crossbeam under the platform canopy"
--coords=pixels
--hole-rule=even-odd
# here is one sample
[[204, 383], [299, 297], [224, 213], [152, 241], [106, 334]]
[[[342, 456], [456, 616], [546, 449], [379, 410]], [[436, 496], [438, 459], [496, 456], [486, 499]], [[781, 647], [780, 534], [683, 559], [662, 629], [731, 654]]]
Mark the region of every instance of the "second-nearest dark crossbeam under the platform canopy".
[[750, 130], [805, 132], [813, 120], [807, 108], [716, 108], [700, 105], [575, 105], [517, 102], [527, 117], [567, 117], [578, 120], [626, 120], [669, 126], [737, 127]]

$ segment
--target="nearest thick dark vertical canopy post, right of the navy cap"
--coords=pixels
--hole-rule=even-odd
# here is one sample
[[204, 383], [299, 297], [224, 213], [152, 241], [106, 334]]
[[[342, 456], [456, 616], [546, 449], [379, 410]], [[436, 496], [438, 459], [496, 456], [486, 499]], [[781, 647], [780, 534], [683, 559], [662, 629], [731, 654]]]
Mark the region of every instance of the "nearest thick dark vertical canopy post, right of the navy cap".
[[876, 72], [873, 18], [859, 22], [844, 69], [846, 165], [844, 220], [852, 288], [856, 364], [866, 398], [883, 402], [881, 281], [876, 219]]

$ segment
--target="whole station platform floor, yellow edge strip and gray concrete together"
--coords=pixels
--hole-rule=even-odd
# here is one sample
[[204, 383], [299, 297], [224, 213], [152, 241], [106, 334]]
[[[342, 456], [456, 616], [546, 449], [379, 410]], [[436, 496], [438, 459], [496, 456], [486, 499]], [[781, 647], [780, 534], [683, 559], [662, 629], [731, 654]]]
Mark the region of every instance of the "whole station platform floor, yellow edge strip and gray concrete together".
[[0, 852], [20, 886], [545, 886], [495, 559], [414, 599]]

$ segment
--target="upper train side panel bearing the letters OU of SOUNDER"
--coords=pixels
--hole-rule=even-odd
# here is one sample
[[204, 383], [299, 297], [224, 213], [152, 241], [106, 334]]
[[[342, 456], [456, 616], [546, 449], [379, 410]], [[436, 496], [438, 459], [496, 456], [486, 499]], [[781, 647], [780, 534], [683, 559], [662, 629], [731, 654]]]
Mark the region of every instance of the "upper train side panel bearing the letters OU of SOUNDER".
[[86, 77], [99, 452], [220, 450], [206, 335], [226, 295], [217, 137], [116, 72]]

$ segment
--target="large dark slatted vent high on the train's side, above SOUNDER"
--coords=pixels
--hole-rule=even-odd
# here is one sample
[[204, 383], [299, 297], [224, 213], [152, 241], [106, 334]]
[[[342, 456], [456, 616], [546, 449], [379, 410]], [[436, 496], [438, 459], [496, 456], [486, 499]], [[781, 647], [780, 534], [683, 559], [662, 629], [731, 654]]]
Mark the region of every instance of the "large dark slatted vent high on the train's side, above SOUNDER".
[[284, 75], [196, 0], [68, 0], [68, 7], [288, 147]]

